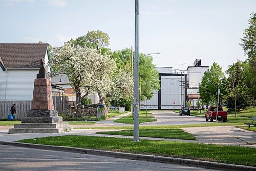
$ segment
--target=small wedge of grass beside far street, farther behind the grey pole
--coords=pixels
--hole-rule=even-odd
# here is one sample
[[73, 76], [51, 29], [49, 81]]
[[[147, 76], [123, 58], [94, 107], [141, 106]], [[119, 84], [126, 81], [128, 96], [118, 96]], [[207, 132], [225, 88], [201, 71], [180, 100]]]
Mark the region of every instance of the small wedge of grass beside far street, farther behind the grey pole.
[[[140, 123], [149, 123], [151, 121], [157, 121], [157, 119], [155, 118], [155, 116], [152, 115], [151, 112], [147, 111], [140, 111], [139, 112], [139, 124]], [[124, 116], [120, 119], [116, 119], [114, 121], [115, 123], [123, 123], [123, 124], [133, 124], [133, 116], [132, 114], [128, 115], [128, 116]]]

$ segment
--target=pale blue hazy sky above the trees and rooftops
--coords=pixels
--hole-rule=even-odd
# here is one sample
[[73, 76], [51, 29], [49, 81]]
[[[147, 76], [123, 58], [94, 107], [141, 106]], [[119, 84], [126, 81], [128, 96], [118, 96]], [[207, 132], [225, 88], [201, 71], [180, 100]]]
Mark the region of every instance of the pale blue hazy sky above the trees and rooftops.
[[[245, 60], [239, 45], [255, 0], [139, 0], [139, 52], [157, 66], [217, 62], [226, 70]], [[134, 45], [134, 0], [0, 0], [0, 43], [61, 46], [101, 30], [112, 51]]]

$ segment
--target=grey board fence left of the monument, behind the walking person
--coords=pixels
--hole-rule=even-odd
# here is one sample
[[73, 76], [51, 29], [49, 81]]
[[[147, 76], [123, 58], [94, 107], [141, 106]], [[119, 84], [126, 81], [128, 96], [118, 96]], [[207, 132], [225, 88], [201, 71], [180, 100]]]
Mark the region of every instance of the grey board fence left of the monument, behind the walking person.
[[21, 119], [31, 109], [32, 101], [0, 101], [0, 119], [7, 119], [13, 104], [16, 104], [15, 119]]

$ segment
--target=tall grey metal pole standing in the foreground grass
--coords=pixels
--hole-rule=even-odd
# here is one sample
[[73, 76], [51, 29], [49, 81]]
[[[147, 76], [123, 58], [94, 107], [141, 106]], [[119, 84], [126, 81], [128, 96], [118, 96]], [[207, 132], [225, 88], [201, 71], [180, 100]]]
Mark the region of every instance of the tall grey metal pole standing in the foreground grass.
[[139, 0], [135, 0], [135, 63], [134, 63], [134, 125], [133, 141], [139, 141]]

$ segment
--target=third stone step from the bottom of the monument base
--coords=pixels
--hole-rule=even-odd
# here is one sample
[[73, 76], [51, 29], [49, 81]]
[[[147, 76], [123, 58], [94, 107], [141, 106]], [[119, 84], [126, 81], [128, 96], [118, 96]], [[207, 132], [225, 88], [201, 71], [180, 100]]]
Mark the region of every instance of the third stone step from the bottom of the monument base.
[[22, 123], [30, 124], [53, 124], [62, 123], [61, 116], [50, 116], [50, 117], [22, 117]]

